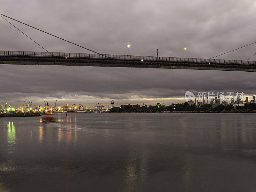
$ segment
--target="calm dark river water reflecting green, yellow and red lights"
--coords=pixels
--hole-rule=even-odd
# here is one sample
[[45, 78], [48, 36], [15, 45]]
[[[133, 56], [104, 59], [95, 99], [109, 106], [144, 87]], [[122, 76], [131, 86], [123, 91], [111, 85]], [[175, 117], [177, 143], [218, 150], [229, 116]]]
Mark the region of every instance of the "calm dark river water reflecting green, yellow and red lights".
[[[49, 116], [49, 115], [48, 115]], [[0, 118], [0, 191], [255, 191], [255, 114]]]

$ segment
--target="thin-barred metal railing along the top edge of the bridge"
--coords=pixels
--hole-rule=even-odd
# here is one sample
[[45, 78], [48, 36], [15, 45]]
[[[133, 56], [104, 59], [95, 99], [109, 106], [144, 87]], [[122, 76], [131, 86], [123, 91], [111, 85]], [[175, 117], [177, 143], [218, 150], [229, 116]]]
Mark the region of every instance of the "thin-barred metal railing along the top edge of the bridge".
[[198, 59], [180, 57], [155, 57], [138, 55], [100, 55], [88, 53], [61, 53], [61, 52], [26, 52], [26, 51], [0, 51], [0, 55], [5, 56], [38, 56], [38, 57], [69, 57], [69, 58], [100, 58], [100, 59], [122, 59], [122, 60], [150, 60], [150, 61], [173, 61], [188, 63], [223, 63], [223, 64], [246, 64], [256, 65], [256, 61], [243, 60], [220, 60], [220, 59]]

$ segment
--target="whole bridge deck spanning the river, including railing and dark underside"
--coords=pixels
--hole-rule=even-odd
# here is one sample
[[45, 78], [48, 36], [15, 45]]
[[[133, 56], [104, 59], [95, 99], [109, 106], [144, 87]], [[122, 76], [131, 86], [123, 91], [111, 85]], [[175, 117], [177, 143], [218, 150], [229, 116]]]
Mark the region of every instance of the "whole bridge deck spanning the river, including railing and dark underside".
[[0, 64], [172, 68], [256, 72], [256, 61], [58, 52], [0, 51]]

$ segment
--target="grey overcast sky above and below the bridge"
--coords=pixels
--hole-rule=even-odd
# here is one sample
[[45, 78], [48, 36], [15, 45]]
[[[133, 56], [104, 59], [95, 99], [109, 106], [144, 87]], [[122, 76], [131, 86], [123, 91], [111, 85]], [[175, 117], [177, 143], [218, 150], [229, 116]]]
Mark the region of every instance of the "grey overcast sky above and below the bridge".
[[[255, 42], [253, 0], [1, 0], [0, 12], [101, 54], [211, 58]], [[9, 19], [50, 52], [91, 53]], [[44, 51], [0, 19], [0, 50]], [[218, 59], [247, 60], [256, 44]], [[251, 60], [256, 60], [256, 56]], [[169, 105], [186, 91], [256, 95], [256, 73], [186, 69], [0, 65], [0, 104]], [[34, 105], [33, 104], [33, 105]]]

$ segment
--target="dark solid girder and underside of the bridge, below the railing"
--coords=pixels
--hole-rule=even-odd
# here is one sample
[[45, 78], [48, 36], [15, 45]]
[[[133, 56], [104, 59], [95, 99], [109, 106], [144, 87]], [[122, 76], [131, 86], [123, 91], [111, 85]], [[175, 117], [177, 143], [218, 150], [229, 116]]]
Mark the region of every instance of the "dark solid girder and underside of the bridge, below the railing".
[[[12, 56], [0, 55], [0, 63], [6, 65], [66, 65], [66, 66], [94, 66], [94, 67], [130, 67], [130, 68], [166, 68], [166, 69], [196, 69], [222, 71], [251, 71], [256, 72], [255, 64], [187, 61], [166, 61], [113, 58], [84, 58], [84, 57], [56, 57], [56, 56]], [[230, 61], [230, 60], [227, 60]]]

